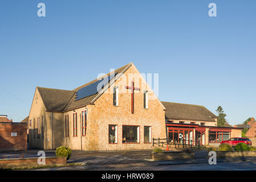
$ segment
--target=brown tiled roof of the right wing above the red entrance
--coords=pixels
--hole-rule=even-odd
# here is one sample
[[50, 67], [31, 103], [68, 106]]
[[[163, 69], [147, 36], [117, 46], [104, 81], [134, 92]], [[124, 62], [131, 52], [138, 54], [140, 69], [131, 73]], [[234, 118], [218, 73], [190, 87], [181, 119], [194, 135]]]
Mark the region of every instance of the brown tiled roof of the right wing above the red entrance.
[[180, 104], [174, 102], [162, 102], [165, 106], [165, 117], [168, 119], [184, 119], [191, 121], [215, 121], [217, 118], [211, 111], [204, 106]]

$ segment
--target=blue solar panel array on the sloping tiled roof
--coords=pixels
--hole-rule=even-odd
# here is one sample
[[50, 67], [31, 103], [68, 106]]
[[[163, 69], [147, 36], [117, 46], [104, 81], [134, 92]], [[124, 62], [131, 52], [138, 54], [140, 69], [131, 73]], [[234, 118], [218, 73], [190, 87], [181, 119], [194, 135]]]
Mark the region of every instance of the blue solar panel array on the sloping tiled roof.
[[114, 77], [116, 76], [117, 73], [115, 74], [112, 74], [106, 78], [104, 78], [103, 80], [99, 80], [99, 81], [96, 81], [94, 82], [93, 84], [91, 85], [87, 85], [87, 86], [84, 86], [82, 89], [79, 89], [77, 92], [76, 92], [76, 97], [75, 97], [75, 100], [80, 100], [82, 98], [85, 98], [85, 97], [89, 97], [89, 96], [92, 96], [96, 93], [98, 93], [105, 85], [108, 84], [108, 82]]

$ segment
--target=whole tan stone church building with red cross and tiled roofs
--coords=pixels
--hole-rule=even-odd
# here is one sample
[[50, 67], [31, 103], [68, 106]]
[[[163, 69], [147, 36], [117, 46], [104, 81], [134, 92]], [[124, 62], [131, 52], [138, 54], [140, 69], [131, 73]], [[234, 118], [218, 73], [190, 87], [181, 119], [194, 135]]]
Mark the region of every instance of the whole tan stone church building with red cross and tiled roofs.
[[[204, 106], [161, 102], [133, 63], [74, 90], [36, 87], [29, 147], [52, 150], [151, 149], [153, 138], [218, 144], [241, 129], [217, 127]], [[188, 142], [188, 141], [187, 141]]]

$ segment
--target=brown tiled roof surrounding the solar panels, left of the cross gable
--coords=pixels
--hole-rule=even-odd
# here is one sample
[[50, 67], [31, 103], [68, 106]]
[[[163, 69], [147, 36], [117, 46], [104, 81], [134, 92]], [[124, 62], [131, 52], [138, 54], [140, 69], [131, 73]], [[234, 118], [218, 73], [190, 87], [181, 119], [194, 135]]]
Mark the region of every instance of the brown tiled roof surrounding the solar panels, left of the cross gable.
[[[123, 67], [116, 69], [115, 73], [123, 73], [131, 65], [132, 63], [124, 65]], [[108, 73], [107, 75], [103, 76], [103, 78], [109, 75], [111, 75], [111, 73]], [[94, 101], [94, 99], [100, 95], [100, 93], [96, 93], [92, 96], [88, 96], [77, 101], [75, 100], [75, 93], [79, 89], [91, 85], [96, 81], [98, 81], [97, 78], [95, 80], [88, 82], [87, 84], [75, 88], [74, 90], [60, 90], [42, 87], [37, 88], [39, 90], [40, 96], [42, 97], [43, 103], [48, 111], [67, 111], [79, 106], [91, 104], [91, 102]]]

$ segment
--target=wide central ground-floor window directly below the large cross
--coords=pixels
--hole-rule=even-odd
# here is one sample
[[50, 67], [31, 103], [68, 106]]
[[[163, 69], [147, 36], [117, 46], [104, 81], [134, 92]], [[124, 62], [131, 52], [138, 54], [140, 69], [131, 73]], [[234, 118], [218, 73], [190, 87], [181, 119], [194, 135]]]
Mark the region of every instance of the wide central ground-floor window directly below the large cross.
[[140, 143], [140, 126], [123, 126], [123, 143]]

